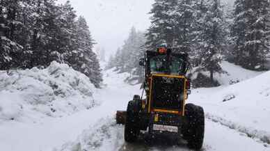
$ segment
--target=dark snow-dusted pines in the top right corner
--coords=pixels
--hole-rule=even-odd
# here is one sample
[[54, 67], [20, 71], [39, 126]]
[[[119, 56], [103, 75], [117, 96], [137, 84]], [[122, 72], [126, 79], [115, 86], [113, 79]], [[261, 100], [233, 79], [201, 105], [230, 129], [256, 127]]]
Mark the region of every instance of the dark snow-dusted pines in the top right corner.
[[265, 70], [269, 53], [270, 1], [235, 1], [231, 39], [235, 63], [251, 70]]

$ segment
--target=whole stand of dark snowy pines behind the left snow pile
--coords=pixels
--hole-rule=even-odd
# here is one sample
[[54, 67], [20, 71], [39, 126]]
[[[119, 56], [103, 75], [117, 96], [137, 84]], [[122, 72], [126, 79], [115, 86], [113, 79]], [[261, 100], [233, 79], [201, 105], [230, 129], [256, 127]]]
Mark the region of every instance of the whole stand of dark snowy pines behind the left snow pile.
[[86, 20], [67, 1], [0, 1], [0, 70], [68, 63], [96, 87], [102, 75]]

